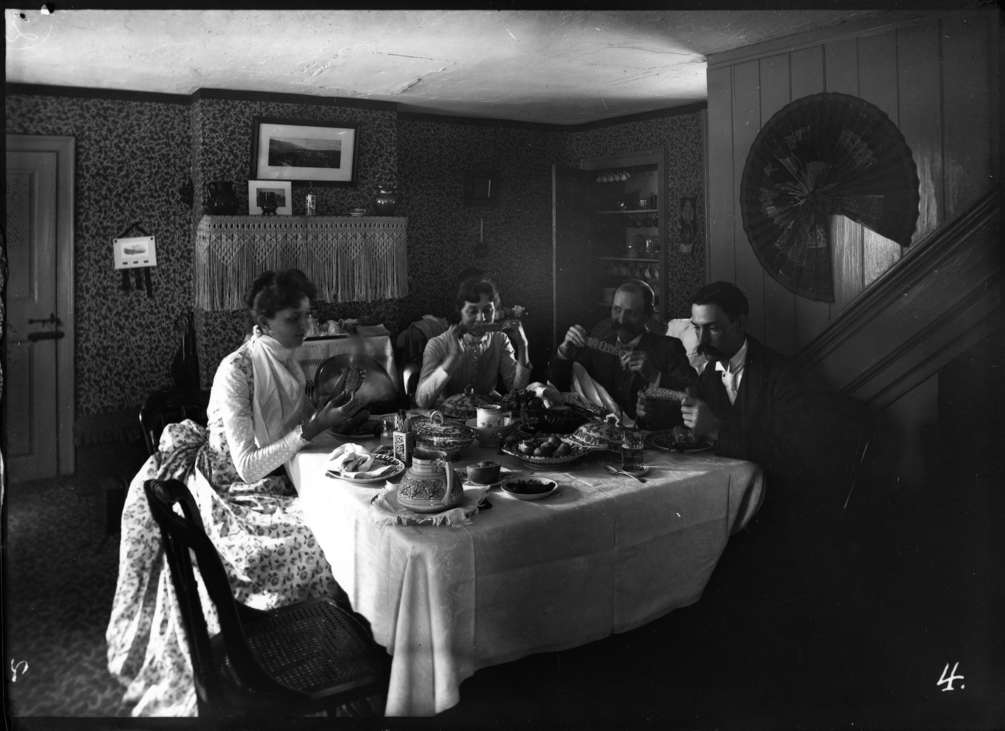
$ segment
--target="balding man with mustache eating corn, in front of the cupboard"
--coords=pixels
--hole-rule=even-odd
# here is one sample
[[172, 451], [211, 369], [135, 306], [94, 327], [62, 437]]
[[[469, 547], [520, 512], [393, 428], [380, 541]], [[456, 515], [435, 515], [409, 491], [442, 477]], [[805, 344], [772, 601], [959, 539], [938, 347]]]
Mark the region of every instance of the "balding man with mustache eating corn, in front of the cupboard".
[[[610, 319], [593, 331], [594, 337], [615, 345], [622, 355], [587, 347], [586, 329], [573, 325], [548, 363], [548, 380], [560, 391], [571, 391], [573, 362], [579, 362], [630, 419], [635, 418], [635, 394], [650, 384], [676, 390], [693, 385], [697, 374], [687, 361], [680, 340], [657, 335], [645, 327], [655, 312], [653, 298], [648, 284], [639, 279], [626, 280], [614, 293]], [[650, 409], [646, 426], [665, 429], [680, 423], [681, 416], [674, 406]]]

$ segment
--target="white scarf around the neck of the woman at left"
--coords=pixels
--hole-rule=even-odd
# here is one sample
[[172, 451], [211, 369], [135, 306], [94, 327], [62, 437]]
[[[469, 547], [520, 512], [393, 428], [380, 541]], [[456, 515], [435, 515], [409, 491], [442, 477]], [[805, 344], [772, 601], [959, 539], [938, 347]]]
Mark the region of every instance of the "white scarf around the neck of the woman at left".
[[261, 334], [257, 326], [251, 337], [251, 367], [254, 441], [261, 449], [278, 442], [300, 423], [307, 379], [293, 356], [293, 348]]

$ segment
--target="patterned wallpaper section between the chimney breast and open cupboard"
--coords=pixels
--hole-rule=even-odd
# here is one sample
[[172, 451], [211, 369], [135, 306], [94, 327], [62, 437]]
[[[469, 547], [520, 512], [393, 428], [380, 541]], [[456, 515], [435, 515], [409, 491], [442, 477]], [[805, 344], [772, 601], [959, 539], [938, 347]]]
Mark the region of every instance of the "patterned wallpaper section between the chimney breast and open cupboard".
[[[555, 133], [511, 127], [398, 121], [398, 174], [408, 216], [409, 296], [401, 325], [450, 316], [457, 275], [490, 272], [504, 305], [528, 309], [531, 359], [547, 364], [552, 327], [552, 190]], [[497, 208], [464, 207], [464, 172], [497, 170]], [[476, 257], [479, 224], [487, 251]]]

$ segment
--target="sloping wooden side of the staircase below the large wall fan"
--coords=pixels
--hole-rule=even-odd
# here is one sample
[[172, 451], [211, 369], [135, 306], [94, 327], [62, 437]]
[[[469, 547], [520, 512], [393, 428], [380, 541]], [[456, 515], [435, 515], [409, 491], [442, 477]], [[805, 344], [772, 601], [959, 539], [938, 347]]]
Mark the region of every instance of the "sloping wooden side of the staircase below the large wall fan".
[[874, 410], [891, 405], [1001, 321], [994, 186], [911, 247], [796, 357]]

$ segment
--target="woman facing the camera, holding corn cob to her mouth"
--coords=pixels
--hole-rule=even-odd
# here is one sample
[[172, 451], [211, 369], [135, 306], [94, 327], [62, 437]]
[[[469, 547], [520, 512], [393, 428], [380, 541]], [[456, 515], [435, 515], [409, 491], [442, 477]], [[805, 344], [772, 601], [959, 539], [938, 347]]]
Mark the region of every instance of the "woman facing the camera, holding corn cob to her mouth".
[[[463, 394], [467, 386], [475, 394], [493, 394], [500, 376], [511, 391], [531, 383], [527, 334], [520, 320], [511, 321], [502, 332], [471, 332], [478, 324], [492, 322], [497, 299], [495, 285], [487, 279], [467, 279], [460, 283], [457, 290], [460, 322], [426, 343], [415, 391], [417, 406], [428, 409], [441, 399]], [[516, 348], [508, 332], [514, 335]]]

